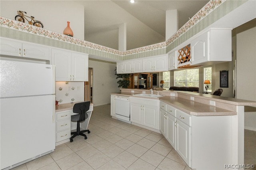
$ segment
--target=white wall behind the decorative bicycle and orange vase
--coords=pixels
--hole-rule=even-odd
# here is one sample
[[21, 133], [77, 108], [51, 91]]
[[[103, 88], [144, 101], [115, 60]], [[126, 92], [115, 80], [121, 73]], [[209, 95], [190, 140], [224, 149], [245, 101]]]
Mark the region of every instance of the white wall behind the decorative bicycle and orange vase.
[[[1, 0], [0, 16], [14, 20], [17, 11], [27, 12], [43, 23], [46, 30], [63, 34], [70, 22], [74, 38], [84, 40], [84, 7], [74, 1], [60, 0]], [[28, 24], [27, 21], [25, 21]]]

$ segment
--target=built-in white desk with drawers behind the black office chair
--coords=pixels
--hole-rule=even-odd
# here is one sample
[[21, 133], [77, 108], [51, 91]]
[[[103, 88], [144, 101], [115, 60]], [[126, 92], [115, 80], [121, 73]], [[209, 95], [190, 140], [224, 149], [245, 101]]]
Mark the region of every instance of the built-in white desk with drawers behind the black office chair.
[[[69, 138], [71, 137], [70, 132], [72, 130], [76, 130], [76, 123], [71, 122], [71, 116], [76, 115], [76, 113], [73, 113], [73, 107], [76, 103], [64, 103], [56, 106], [56, 146], [69, 141]], [[93, 103], [90, 103], [90, 109], [86, 112], [88, 114], [88, 118], [84, 122], [80, 123], [80, 127], [84, 130], [88, 128], [92, 111]]]

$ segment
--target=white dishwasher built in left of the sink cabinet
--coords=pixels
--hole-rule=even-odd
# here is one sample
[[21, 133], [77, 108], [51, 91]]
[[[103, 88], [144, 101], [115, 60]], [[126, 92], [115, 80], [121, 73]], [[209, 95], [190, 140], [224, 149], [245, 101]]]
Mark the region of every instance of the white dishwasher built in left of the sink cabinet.
[[130, 121], [130, 98], [124, 96], [116, 96], [115, 98], [116, 118], [124, 121]]

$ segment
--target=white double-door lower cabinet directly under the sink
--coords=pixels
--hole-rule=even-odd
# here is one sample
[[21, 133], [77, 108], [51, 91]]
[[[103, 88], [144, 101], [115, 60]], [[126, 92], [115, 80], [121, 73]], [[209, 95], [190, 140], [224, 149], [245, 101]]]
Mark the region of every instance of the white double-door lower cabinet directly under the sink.
[[159, 100], [130, 97], [130, 121], [159, 130]]

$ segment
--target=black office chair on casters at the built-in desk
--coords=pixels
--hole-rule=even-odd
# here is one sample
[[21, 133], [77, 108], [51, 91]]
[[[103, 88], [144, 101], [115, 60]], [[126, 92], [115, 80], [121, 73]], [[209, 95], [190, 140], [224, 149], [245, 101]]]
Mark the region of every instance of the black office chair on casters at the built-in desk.
[[86, 134], [84, 134], [84, 132], [90, 133], [90, 130], [80, 131], [80, 122], [88, 118], [88, 114], [86, 113], [86, 111], [88, 111], [89, 108], [90, 108], [90, 101], [76, 103], [74, 105], [73, 113], [79, 113], [79, 114], [71, 116], [71, 121], [77, 122], [77, 128], [76, 128], [76, 132], [71, 132], [73, 136], [70, 138], [70, 142], [73, 142], [73, 138], [78, 135], [84, 136], [84, 139], [87, 139], [87, 136]]

